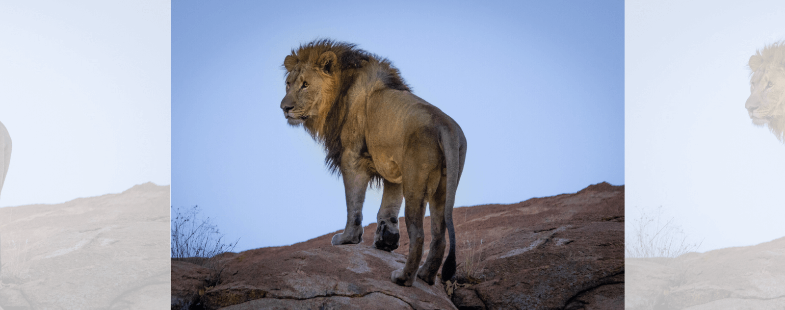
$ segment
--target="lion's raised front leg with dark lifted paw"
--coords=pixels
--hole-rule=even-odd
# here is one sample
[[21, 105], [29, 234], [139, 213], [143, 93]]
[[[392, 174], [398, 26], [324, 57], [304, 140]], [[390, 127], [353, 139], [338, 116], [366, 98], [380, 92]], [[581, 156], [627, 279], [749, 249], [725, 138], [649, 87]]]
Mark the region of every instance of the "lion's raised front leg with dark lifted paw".
[[376, 233], [374, 234], [374, 249], [391, 252], [398, 248], [400, 229], [398, 228], [398, 211], [400, 202], [403, 201], [401, 184], [384, 181], [385, 191], [382, 194], [382, 206], [376, 215]]

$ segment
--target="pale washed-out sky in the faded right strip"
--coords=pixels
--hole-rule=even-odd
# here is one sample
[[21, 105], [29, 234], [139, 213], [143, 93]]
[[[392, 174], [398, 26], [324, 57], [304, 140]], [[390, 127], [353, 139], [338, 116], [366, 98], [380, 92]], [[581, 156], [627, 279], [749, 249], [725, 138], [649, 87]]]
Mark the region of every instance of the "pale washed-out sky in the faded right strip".
[[722, 3], [625, 8], [626, 232], [662, 206], [701, 252], [785, 236], [785, 145], [744, 108], [747, 60], [785, 38], [785, 4]]

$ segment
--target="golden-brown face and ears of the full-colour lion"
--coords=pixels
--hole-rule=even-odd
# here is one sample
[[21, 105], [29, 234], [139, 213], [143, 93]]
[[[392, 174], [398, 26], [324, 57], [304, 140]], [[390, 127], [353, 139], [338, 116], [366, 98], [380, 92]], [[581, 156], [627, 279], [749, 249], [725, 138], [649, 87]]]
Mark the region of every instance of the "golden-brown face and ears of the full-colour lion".
[[283, 65], [287, 68], [287, 95], [281, 100], [283, 116], [289, 125], [298, 126], [308, 119], [316, 118], [319, 109], [330, 100], [334, 85], [332, 64], [336, 56], [326, 52], [314, 64], [303, 63], [287, 56]]

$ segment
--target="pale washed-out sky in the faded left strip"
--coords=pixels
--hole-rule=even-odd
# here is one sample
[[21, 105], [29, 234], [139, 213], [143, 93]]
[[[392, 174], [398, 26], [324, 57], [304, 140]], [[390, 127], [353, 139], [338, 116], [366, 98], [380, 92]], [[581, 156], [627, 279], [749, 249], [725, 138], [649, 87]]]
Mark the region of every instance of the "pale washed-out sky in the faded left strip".
[[0, 206], [170, 184], [170, 5], [0, 2]]

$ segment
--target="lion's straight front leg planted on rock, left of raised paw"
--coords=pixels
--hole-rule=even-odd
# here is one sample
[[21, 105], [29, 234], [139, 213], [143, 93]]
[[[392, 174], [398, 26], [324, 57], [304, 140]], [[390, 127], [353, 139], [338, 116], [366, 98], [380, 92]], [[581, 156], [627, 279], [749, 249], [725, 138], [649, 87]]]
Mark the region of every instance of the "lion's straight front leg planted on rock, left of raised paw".
[[341, 175], [346, 191], [346, 228], [344, 232], [333, 236], [334, 246], [363, 242], [363, 201], [368, 181], [371, 181], [368, 173], [359, 169], [345, 169], [341, 166]]

